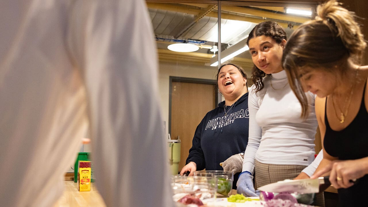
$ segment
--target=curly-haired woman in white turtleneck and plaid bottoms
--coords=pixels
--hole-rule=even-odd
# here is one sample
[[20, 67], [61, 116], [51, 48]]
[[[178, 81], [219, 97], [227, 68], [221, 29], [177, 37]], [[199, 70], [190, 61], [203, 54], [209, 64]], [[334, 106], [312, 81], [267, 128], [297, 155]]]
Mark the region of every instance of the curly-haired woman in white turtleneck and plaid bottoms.
[[306, 167], [314, 161], [317, 121], [314, 95], [307, 94], [312, 107], [303, 119], [300, 103], [283, 70], [284, 29], [276, 22], [262, 22], [251, 31], [247, 45], [254, 63], [255, 84], [249, 91], [249, 141], [237, 191], [257, 196], [255, 189], [263, 185], [294, 179], [302, 171], [307, 176], [313, 174], [315, 168]]

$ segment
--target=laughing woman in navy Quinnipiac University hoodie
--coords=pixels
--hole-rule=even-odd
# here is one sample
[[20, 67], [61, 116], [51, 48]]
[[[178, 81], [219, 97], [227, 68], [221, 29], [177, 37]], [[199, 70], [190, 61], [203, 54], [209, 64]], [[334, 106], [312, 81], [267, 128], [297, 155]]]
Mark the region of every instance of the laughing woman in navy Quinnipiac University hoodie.
[[[225, 101], [210, 110], [195, 130], [186, 165], [180, 175], [194, 171], [226, 170], [231, 162], [241, 162], [248, 143], [247, 74], [233, 63], [223, 64], [217, 71], [217, 86]], [[220, 163], [225, 162], [220, 165]], [[236, 189], [237, 172], [233, 187]]]

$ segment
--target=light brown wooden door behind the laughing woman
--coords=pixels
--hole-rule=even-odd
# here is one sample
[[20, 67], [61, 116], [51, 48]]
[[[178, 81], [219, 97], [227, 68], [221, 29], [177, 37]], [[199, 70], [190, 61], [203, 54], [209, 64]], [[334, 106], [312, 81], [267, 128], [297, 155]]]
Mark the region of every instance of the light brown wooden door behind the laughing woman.
[[[212, 80], [211, 80], [212, 81]], [[215, 83], [171, 82], [171, 107], [169, 131], [172, 139], [180, 137], [181, 150], [179, 171], [192, 147], [195, 129], [207, 112], [217, 105]]]

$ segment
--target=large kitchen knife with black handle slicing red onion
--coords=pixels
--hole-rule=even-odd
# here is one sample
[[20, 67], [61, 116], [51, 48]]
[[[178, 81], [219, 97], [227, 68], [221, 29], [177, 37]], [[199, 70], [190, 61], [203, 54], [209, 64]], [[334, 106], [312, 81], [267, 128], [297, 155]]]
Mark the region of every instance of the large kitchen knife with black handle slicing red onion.
[[318, 193], [330, 185], [329, 176], [325, 176], [316, 179], [283, 180], [259, 187], [258, 190], [273, 193]]

